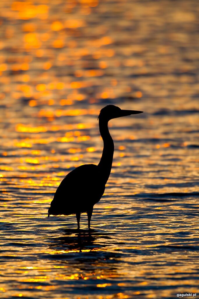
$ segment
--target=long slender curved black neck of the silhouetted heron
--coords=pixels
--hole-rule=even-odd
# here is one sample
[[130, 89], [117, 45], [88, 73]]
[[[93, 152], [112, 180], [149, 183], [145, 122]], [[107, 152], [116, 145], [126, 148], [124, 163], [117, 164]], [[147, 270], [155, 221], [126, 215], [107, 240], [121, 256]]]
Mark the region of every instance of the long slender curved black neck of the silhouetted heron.
[[104, 148], [101, 156], [101, 160], [98, 164], [98, 168], [101, 172], [101, 177], [104, 184], [108, 181], [114, 152], [114, 143], [108, 129], [108, 121], [99, 118], [99, 130], [101, 137], [104, 141]]

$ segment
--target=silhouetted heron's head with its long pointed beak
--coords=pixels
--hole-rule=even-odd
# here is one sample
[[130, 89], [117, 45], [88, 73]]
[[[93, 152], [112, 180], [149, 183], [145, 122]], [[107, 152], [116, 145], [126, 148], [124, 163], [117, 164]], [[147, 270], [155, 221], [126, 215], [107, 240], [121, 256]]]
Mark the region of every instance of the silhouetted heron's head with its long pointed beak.
[[108, 105], [101, 109], [98, 118], [109, 121], [113, 118], [128, 116], [128, 115], [132, 115], [132, 114], [138, 114], [138, 113], [142, 113], [142, 112], [143, 111], [122, 110], [117, 106]]

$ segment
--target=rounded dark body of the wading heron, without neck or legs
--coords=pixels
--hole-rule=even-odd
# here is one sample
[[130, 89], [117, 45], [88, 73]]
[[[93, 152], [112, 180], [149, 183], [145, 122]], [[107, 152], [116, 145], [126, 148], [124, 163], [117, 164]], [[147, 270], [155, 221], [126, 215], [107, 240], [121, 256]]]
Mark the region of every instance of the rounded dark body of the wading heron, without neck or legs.
[[72, 170], [57, 188], [49, 214], [70, 215], [79, 208], [87, 211], [90, 205], [98, 202], [105, 186], [100, 182], [97, 165], [81, 165]]

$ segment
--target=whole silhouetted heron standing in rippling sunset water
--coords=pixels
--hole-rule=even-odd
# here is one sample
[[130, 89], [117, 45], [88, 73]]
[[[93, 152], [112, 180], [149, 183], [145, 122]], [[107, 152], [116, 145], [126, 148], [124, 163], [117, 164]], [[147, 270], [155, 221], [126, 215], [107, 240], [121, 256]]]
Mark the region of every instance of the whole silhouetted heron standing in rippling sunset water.
[[108, 181], [114, 152], [114, 143], [109, 133], [108, 122], [111, 119], [142, 113], [143, 111], [122, 110], [114, 105], [101, 109], [99, 131], [104, 142], [101, 160], [98, 165], [81, 165], [65, 176], [58, 186], [48, 209], [50, 215], [76, 215], [78, 230], [81, 213], [87, 213], [88, 228], [93, 206], [100, 201]]

